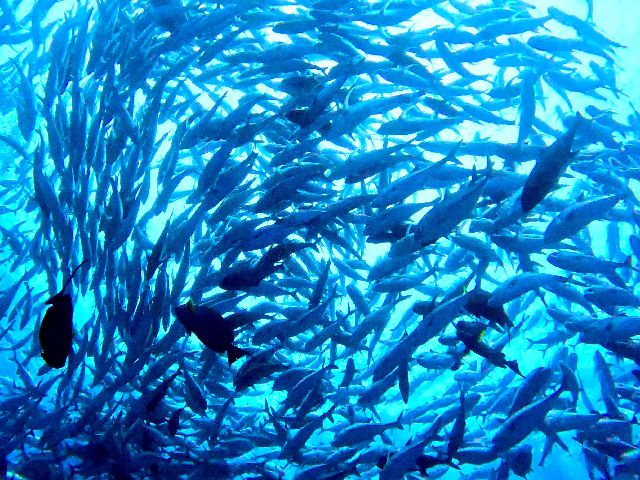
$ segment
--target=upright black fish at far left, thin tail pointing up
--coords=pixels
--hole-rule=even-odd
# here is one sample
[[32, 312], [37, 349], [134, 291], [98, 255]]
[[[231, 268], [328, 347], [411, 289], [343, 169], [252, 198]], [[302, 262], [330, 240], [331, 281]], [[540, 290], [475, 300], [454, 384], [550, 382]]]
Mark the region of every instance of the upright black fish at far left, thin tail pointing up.
[[42, 358], [53, 368], [62, 368], [71, 352], [73, 340], [73, 303], [71, 295], [64, 293], [76, 272], [87, 260], [76, 267], [62, 289], [45, 302], [51, 305], [44, 314], [38, 338], [42, 349]]

